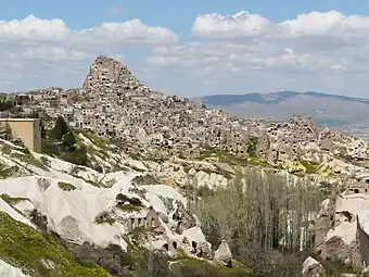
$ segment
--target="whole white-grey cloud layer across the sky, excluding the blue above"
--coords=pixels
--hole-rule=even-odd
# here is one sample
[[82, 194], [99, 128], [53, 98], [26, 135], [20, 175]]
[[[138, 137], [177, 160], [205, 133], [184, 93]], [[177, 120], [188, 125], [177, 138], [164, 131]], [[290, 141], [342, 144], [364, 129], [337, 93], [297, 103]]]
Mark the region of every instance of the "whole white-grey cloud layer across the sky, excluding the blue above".
[[0, 21], [0, 59], [8, 64], [0, 68], [0, 90], [79, 86], [93, 59], [106, 54], [167, 93], [367, 96], [369, 16], [329, 11], [273, 22], [249, 12], [212, 13], [194, 18], [189, 30], [192, 41], [180, 43], [173, 30], [138, 18], [85, 29], [34, 15]]

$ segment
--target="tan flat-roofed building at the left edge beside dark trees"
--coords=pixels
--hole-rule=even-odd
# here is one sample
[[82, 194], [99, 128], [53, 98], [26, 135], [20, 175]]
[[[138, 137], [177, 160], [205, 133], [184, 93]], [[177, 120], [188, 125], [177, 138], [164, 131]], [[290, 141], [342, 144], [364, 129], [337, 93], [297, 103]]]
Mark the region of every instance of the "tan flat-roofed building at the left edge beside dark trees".
[[41, 151], [41, 128], [37, 118], [0, 118], [0, 129], [10, 127], [12, 135], [34, 152]]

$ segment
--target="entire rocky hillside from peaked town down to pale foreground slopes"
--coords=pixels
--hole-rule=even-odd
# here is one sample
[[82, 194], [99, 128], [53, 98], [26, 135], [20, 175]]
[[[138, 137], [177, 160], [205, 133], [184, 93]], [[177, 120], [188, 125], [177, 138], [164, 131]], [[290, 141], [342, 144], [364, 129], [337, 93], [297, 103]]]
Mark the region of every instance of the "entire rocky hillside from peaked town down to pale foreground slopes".
[[106, 56], [81, 88], [27, 93], [22, 109], [46, 143], [0, 140], [0, 273], [295, 277], [369, 262], [362, 138], [165, 96]]

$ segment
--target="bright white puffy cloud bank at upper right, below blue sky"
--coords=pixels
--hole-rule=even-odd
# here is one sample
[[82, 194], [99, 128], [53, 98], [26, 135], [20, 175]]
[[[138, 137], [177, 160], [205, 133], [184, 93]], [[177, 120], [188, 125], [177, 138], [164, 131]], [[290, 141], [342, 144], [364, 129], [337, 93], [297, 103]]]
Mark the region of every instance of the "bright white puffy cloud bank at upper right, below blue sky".
[[260, 36], [268, 38], [365, 37], [369, 34], [369, 16], [343, 15], [338, 11], [310, 12], [278, 23], [246, 11], [233, 15], [213, 13], [199, 15], [192, 25], [192, 33], [217, 39], [245, 39]]

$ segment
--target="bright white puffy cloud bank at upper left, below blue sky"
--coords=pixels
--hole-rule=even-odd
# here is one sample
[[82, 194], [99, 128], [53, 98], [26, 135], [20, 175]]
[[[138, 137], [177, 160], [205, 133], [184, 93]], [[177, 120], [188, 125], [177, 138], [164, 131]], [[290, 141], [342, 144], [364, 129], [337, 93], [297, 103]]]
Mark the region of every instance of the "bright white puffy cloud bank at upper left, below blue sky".
[[69, 29], [60, 18], [41, 20], [35, 15], [28, 15], [22, 21], [0, 21], [0, 41], [2, 42], [49, 41], [101, 45], [101, 42], [171, 43], [177, 40], [178, 37], [173, 30], [148, 26], [137, 18], [123, 23], [102, 23], [99, 26], [80, 30]]

